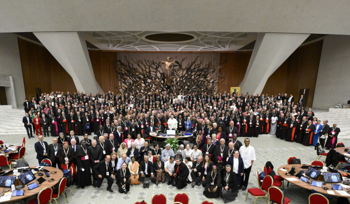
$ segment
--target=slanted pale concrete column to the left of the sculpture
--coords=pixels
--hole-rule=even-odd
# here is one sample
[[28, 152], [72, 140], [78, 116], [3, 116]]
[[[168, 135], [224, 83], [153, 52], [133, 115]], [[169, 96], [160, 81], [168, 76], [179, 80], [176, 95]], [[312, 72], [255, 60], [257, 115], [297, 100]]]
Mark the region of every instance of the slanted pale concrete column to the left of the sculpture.
[[78, 91], [103, 91], [95, 79], [84, 34], [79, 32], [34, 32], [53, 57], [72, 77]]

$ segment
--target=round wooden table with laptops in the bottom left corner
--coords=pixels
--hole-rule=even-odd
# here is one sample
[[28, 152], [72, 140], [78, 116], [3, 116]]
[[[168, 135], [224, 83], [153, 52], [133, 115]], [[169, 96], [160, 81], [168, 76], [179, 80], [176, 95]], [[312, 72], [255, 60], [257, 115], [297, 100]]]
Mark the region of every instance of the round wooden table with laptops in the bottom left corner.
[[[35, 167], [30, 167], [30, 168], [36, 168], [37, 166]], [[17, 201], [17, 200], [21, 200], [21, 199], [24, 199], [24, 198], [28, 198], [28, 197], [31, 197], [33, 195], [35, 195], [36, 193], [39, 193], [41, 189], [45, 188], [45, 187], [53, 187], [55, 186], [58, 181], [60, 180], [60, 178], [63, 177], [63, 172], [57, 168], [53, 168], [53, 167], [44, 167], [44, 169], [46, 170], [49, 170], [49, 174], [50, 174], [50, 178], [53, 178], [54, 181], [53, 182], [49, 182], [49, 181], [44, 181], [41, 185], [39, 185], [39, 187], [36, 187], [32, 190], [28, 190], [28, 187], [27, 185], [29, 184], [32, 184], [34, 182], [36, 182], [36, 180], [39, 178], [39, 177], [43, 177], [43, 178], [47, 178], [47, 176], [45, 175], [44, 171], [39, 171], [41, 173], [43, 173], [44, 175], [43, 176], [38, 176], [37, 174], [35, 174], [35, 180], [29, 182], [28, 184], [25, 185], [24, 188], [22, 188], [23, 190], [25, 190], [24, 194], [22, 196], [11, 196], [11, 199], [9, 201], [6, 201], [6, 202], [1, 202], [1, 203], [7, 203], [7, 202], [11, 202], [11, 201]], [[9, 170], [5, 170], [5, 171], [9, 171]], [[56, 171], [57, 173], [54, 173], [54, 174], [51, 174], [51, 172], [53, 171]], [[13, 176], [13, 174], [10, 174], [8, 176]], [[4, 189], [5, 187], [0, 187], [0, 192], [2, 192], [2, 190]], [[12, 192], [12, 191], [11, 191]]]

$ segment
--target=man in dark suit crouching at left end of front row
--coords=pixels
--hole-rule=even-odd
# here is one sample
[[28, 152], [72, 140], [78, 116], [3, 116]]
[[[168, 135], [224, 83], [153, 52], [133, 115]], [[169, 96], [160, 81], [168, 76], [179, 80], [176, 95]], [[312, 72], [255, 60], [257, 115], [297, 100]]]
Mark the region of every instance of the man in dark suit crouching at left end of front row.
[[97, 163], [92, 169], [92, 173], [95, 175], [96, 182], [94, 186], [101, 187], [103, 180], [107, 179], [107, 190], [113, 192], [111, 189], [113, 184], [113, 170], [110, 155], [106, 155], [105, 159]]

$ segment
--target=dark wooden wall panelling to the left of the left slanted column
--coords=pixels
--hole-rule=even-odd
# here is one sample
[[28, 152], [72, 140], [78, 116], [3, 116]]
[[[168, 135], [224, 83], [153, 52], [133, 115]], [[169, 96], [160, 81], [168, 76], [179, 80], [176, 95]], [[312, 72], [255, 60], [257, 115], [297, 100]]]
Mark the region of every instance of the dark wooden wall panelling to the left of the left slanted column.
[[51, 91], [76, 92], [73, 79], [43, 46], [18, 38], [25, 95], [36, 96], [35, 88]]

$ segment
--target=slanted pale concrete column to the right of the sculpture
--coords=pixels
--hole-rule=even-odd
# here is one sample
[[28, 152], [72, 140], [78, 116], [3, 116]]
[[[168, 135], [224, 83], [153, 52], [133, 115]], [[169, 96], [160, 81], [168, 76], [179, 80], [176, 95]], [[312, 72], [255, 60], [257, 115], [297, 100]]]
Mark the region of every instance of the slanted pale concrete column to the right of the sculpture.
[[261, 94], [267, 79], [310, 34], [259, 33], [241, 93]]

